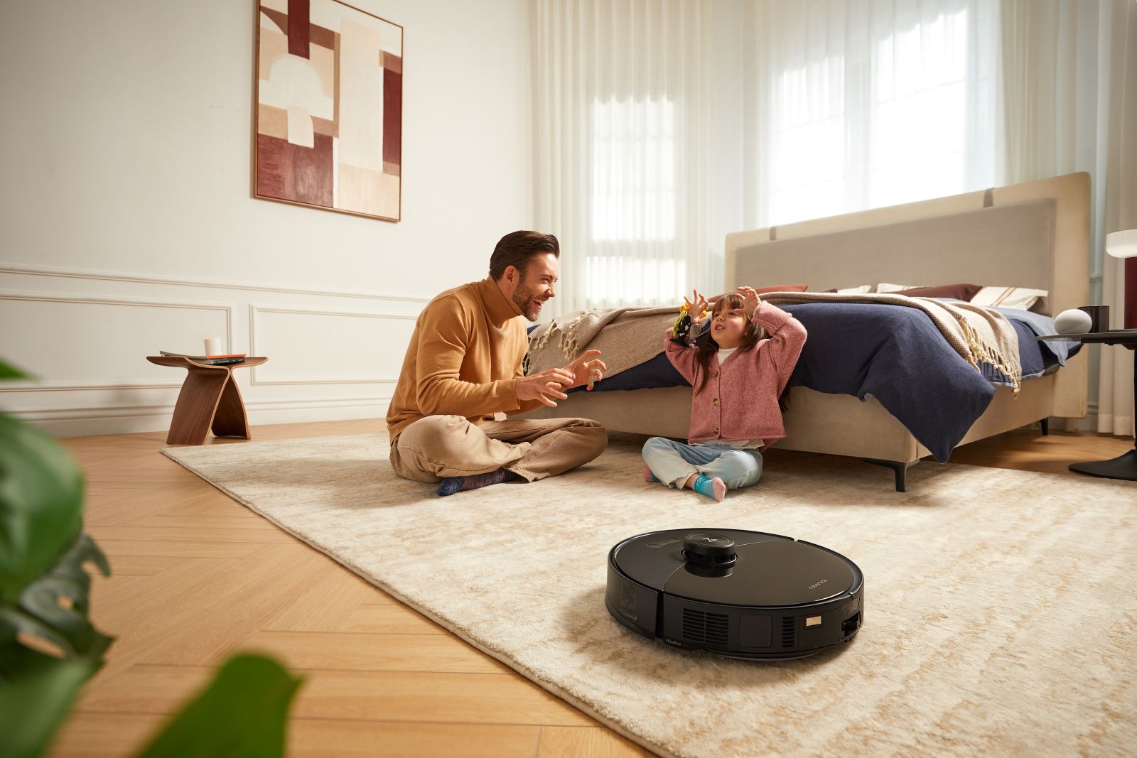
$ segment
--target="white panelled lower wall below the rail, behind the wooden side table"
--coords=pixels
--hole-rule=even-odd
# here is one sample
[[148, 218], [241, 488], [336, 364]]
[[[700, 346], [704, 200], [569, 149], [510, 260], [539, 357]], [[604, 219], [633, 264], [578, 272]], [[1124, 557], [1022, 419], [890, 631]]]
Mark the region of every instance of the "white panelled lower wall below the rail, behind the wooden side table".
[[0, 357], [36, 377], [0, 383], [0, 406], [57, 436], [165, 431], [185, 372], [146, 356], [219, 336], [269, 357], [233, 372], [250, 425], [375, 418], [379, 431], [429, 300], [0, 264], [13, 325]]

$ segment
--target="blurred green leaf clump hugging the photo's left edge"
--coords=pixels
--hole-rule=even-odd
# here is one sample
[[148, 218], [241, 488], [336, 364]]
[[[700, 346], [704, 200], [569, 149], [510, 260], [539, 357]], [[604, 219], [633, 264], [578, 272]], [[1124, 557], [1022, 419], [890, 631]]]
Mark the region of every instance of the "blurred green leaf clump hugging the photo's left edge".
[[[0, 361], [0, 380], [26, 375]], [[0, 743], [42, 755], [111, 638], [88, 618], [85, 563], [110, 574], [83, 523], [83, 477], [58, 442], [0, 414]], [[39, 638], [63, 652], [25, 644]], [[34, 643], [33, 643], [34, 644]], [[40, 645], [35, 645], [39, 648]]]

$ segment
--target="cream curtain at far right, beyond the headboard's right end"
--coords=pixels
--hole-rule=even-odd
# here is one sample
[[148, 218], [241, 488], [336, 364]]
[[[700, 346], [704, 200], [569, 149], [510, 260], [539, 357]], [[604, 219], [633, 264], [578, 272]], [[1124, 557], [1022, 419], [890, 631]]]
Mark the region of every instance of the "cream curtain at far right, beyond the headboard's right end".
[[[1104, 244], [1137, 228], [1137, 1], [1002, 0], [999, 10], [999, 183], [1089, 172], [1092, 298], [1120, 326], [1123, 270]], [[1090, 355], [1097, 431], [1132, 434], [1131, 353]]]

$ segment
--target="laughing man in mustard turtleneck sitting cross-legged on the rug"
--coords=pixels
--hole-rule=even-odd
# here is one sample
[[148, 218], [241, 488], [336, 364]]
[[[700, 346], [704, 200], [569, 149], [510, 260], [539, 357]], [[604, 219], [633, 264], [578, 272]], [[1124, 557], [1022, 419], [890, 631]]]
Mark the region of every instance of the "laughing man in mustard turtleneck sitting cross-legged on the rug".
[[524, 376], [529, 339], [555, 297], [561, 245], [551, 234], [513, 232], [497, 243], [490, 275], [448, 290], [415, 324], [387, 411], [391, 467], [404, 478], [441, 482], [440, 495], [515, 478], [555, 476], [607, 445], [587, 418], [516, 419], [505, 413], [556, 407], [564, 390], [592, 384], [606, 366], [588, 350], [564, 368]]

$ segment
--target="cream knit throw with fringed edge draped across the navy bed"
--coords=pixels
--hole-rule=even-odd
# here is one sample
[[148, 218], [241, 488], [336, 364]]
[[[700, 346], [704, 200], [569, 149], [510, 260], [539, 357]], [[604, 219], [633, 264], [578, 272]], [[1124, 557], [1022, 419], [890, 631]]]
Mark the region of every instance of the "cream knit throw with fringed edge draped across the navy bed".
[[[919, 308], [928, 314], [947, 343], [971, 366], [987, 363], [1006, 375], [1019, 392], [1019, 335], [1003, 314], [969, 302], [944, 302], [903, 294], [841, 294], [829, 292], [767, 292], [762, 299], [773, 306], [802, 302], [878, 302]], [[578, 310], [533, 330], [529, 338], [529, 370], [563, 366], [582, 350], [599, 350], [614, 376], [655, 358], [661, 338], [678, 317], [675, 308], [596, 308]], [[556, 338], [556, 340], [554, 340]], [[556, 344], [554, 344], [554, 341]]]

